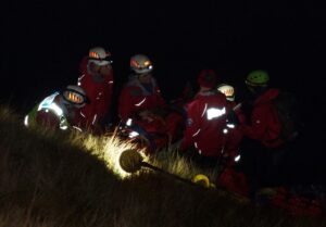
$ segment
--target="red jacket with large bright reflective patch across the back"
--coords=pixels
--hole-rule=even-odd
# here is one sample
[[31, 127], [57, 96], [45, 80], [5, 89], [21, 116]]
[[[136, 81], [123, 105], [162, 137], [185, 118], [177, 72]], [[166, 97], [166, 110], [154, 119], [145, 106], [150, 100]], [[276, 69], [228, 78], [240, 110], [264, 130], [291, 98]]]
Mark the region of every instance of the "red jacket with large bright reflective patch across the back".
[[187, 127], [180, 150], [191, 144], [204, 156], [220, 156], [225, 143], [226, 98], [206, 91], [197, 94], [187, 108]]

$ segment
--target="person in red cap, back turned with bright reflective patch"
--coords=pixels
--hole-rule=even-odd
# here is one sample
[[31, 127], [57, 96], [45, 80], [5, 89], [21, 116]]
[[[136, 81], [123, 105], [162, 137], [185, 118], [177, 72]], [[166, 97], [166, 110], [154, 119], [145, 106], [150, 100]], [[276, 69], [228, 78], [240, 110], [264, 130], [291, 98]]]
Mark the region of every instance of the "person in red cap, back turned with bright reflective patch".
[[216, 74], [203, 70], [198, 76], [199, 92], [187, 106], [187, 126], [180, 151], [195, 148], [191, 159], [203, 168], [214, 168], [225, 146], [227, 103], [223, 93], [215, 89]]

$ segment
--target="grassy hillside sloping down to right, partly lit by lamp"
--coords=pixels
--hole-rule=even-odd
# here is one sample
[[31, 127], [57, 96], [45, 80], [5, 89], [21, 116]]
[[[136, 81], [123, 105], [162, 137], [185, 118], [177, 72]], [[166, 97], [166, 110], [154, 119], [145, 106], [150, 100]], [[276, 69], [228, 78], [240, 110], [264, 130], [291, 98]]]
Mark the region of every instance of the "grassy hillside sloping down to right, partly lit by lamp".
[[[0, 227], [326, 226], [151, 169], [126, 175], [117, 154], [133, 146], [112, 136], [25, 128], [3, 106], [0, 128]], [[147, 162], [184, 178], [200, 172], [173, 151]]]

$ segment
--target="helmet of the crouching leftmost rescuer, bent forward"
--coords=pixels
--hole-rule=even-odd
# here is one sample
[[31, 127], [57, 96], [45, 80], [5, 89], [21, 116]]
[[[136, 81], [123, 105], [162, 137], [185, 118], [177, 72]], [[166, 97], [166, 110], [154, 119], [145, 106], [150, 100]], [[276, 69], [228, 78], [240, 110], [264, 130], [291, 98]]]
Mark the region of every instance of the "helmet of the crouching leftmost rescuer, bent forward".
[[76, 108], [83, 108], [88, 103], [85, 90], [77, 85], [68, 85], [62, 92], [63, 99]]

